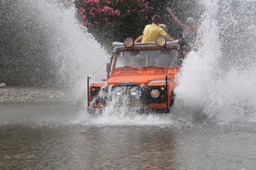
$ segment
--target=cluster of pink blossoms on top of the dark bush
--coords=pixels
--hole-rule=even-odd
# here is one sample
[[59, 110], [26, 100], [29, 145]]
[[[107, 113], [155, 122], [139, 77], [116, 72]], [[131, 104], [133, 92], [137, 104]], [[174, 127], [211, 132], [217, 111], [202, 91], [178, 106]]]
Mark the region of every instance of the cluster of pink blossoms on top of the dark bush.
[[[127, 15], [146, 15], [152, 9], [145, 0], [77, 0], [86, 27], [114, 27], [114, 22]], [[85, 16], [85, 17], [84, 17]]]

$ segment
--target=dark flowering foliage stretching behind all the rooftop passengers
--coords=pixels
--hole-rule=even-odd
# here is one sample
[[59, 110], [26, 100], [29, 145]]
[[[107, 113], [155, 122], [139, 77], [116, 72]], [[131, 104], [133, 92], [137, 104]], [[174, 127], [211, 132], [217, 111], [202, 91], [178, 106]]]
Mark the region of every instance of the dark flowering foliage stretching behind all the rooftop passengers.
[[196, 0], [75, 0], [75, 5], [83, 25], [107, 49], [113, 41], [141, 35], [154, 14], [163, 18], [175, 39], [179, 38], [181, 28], [166, 12], [166, 6], [171, 6], [182, 22], [189, 16], [198, 19], [202, 12]]

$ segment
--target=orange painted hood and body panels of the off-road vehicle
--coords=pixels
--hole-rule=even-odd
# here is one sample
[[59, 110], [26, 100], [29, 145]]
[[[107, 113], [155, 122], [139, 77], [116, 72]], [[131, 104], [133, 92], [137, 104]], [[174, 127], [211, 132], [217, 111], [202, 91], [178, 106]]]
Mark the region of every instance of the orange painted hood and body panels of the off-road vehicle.
[[[147, 48], [150, 50], [160, 48], [157, 45], [153, 46], [147, 45], [141, 48]], [[140, 50], [140, 47], [136, 47], [136, 50]], [[177, 44], [171, 45], [172, 49], [177, 49], [179, 46]], [[101, 90], [107, 86], [115, 86], [122, 84], [138, 85], [140, 87], [160, 87], [160, 90], [164, 91], [159, 99], [165, 99], [164, 103], [146, 103], [147, 108], [165, 109], [170, 108], [173, 104], [173, 90], [177, 87], [177, 82], [175, 81], [175, 75], [179, 71], [179, 65], [174, 67], [115, 67], [117, 60], [117, 53], [122, 50], [127, 50], [125, 47], [121, 46], [118, 49], [113, 50], [113, 55], [111, 58], [111, 63], [109, 65], [108, 79], [106, 82], [101, 83], [91, 83], [89, 87], [89, 107], [91, 108], [102, 108], [108, 103], [94, 103], [97, 95], [99, 95]], [[167, 83], [166, 83], [167, 82]], [[100, 89], [100, 90], [99, 90]], [[134, 104], [134, 103], [133, 103]], [[131, 104], [131, 105], [133, 105]]]

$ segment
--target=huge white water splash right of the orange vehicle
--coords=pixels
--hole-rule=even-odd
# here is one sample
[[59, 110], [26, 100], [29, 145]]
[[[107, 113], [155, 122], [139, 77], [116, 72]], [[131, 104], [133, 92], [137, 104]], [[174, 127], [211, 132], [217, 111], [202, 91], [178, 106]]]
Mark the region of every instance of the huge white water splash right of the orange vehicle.
[[204, 44], [187, 56], [177, 76], [175, 112], [185, 116], [200, 112], [222, 122], [255, 121], [256, 2], [202, 4], [206, 12], [198, 31]]

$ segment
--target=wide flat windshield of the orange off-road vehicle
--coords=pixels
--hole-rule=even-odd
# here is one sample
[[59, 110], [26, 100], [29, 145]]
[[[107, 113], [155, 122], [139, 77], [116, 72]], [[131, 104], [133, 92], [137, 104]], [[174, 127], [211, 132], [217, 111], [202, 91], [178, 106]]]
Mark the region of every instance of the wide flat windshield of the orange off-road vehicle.
[[147, 50], [119, 52], [115, 67], [176, 67], [177, 65], [177, 50]]

